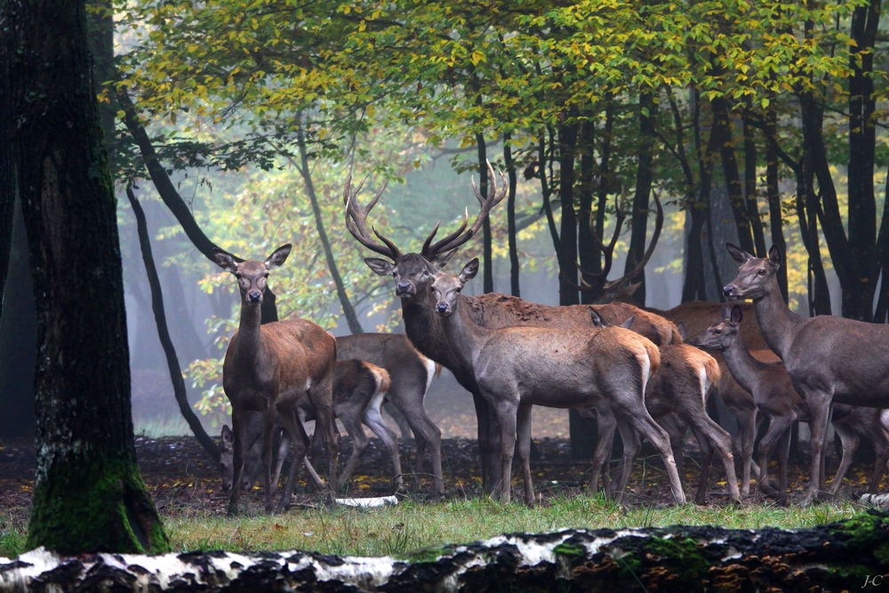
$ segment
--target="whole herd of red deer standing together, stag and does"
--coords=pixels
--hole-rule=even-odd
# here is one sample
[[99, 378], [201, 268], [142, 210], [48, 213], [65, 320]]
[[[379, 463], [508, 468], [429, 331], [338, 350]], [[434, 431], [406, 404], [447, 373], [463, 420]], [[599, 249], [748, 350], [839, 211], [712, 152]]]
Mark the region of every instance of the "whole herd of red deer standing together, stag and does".
[[[361, 186], [353, 188], [351, 180], [346, 181], [346, 228], [364, 247], [383, 256], [365, 262], [376, 274], [395, 279], [406, 335], [364, 333], [334, 339], [305, 319], [260, 325], [268, 274], [284, 263], [290, 245], [264, 261], [214, 252], [216, 263], [236, 276], [241, 293], [240, 325], [223, 368], [233, 425], [222, 432], [221, 469], [223, 488], [231, 490], [229, 513], [237, 511], [240, 493], [260, 477], [260, 470], [266, 509], [275, 508], [272, 494], [291, 447], [294, 454], [278, 510], [287, 507], [300, 465], [319, 489], [327, 487], [308, 460], [309, 451], [312, 459], [326, 461], [330, 490], [340, 490], [367, 447], [363, 425], [388, 448], [393, 488], [402, 490], [396, 436], [380, 412], [384, 399], [412, 429], [417, 443], [413, 471], [422, 471], [428, 452], [434, 493], [444, 494], [441, 431], [423, 405], [430, 382], [443, 366], [472, 394], [483, 487], [501, 501], [512, 495], [517, 453], [524, 500], [533, 504], [534, 405], [575, 408], [597, 419], [599, 443], [589, 487], [597, 490], [603, 479], [605, 492], [618, 502], [645, 437], [661, 455], [673, 500], [685, 504], [680, 477], [688, 430], [701, 449], [695, 502], [705, 501], [713, 453], [723, 462], [732, 501], [749, 497], [751, 477], [762, 493], [786, 501], [796, 421], [808, 422], [812, 435], [805, 501], [827, 493], [824, 453], [831, 421], [843, 457], [829, 493], [837, 493], [862, 438], [877, 451], [869, 484], [869, 492], [876, 491], [889, 461], [889, 413], [881, 413], [889, 407], [889, 326], [792, 313], [781, 299], [775, 276], [782, 263], [776, 247], [768, 257], [757, 258], [727, 245], [741, 267], [738, 277], [725, 286], [725, 296], [752, 300], [752, 306], [689, 302], [661, 311], [620, 301], [549, 307], [503, 294], [464, 296], [461, 291], [476, 276], [478, 260], [470, 260], [457, 274], [443, 268], [505, 196], [505, 188], [497, 189], [490, 164], [488, 178], [487, 196], [473, 183], [480, 207], [471, 226], [467, 212], [459, 228], [436, 240], [436, 225], [420, 252], [412, 253], [401, 252], [375, 228], [368, 230], [367, 216], [382, 190], [363, 206], [357, 200]], [[656, 195], [655, 204], [655, 233], [643, 260], [618, 281], [605, 282], [603, 275], [598, 291], [603, 300], [628, 292], [651, 257], [663, 225]], [[610, 268], [613, 244], [602, 245], [605, 269]], [[687, 343], [686, 335], [691, 337]], [[737, 416], [734, 438], [707, 413], [714, 391]], [[352, 454], [339, 474], [337, 418], [353, 441]], [[311, 442], [304, 420], [316, 421]], [[754, 459], [757, 424], [765, 420], [768, 429]], [[623, 454], [612, 485], [615, 432], [621, 435]], [[735, 457], [741, 458], [740, 485]], [[768, 476], [773, 457], [778, 462], [777, 484]]]

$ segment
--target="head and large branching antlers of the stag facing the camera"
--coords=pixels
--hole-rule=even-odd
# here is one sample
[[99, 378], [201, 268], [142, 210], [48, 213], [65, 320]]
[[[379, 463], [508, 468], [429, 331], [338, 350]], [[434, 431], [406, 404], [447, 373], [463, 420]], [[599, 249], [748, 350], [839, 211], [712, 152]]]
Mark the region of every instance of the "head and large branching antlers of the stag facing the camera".
[[[432, 277], [436, 275], [439, 269], [453, 257], [457, 248], [461, 244], [469, 241], [478, 229], [482, 227], [488, 212], [500, 204], [506, 196], [507, 188], [504, 187], [500, 192], [497, 191], [497, 181], [494, 178], [493, 167], [488, 163], [488, 196], [482, 196], [477, 188], [475, 180], [472, 181], [472, 189], [476, 194], [478, 203], [480, 204], [479, 212], [476, 220], [469, 226], [469, 211], [463, 214], [463, 220], [457, 230], [438, 241], [435, 241], [438, 232], [438, 223], [429, 233], [423, 247], [419, 253], [402, 253], [396, 244], [390, 241], [372, 228], [372, 234], [367, 229], [367, 214], [373, 206], [380, 200], [382, 189], [373, 197], [371, 202], [366, 206], [358, 204], [356, 196], [361, 189], [362, 184], [352, 189], [351, 177], [346, 180], [346, 186], [343, 188], [343, 203], [346, 204], [346, 228], [348, 232], [356, 238], [356, 240], [370, 249], [372, 252], [380, 253], [388, 260], [380, 258], [367, 258], [364, 262], [374, 273], [380, 276], [393, 276], [396, 281], [396, 296], [402, 299], [412, 299], [420, 294], [421, 298], [426, 298], [425, 292], [428, 291], [428, 285], [432, 281]], [[503, 175], [501, 173], [501, 180]], [[383, 187], [385, 189], [385, 186]], [[381, 243], [373, 239], [376, 236]]]

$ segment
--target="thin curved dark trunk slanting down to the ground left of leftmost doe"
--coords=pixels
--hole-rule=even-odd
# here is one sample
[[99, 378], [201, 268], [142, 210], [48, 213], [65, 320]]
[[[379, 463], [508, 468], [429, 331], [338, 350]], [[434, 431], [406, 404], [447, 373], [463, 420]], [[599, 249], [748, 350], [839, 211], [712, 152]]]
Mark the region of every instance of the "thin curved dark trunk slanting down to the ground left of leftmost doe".
[[170, 381], [172, 382], [173, 396], [176, 397], [176, 403], [179, 404], [179, 411], [182, 417], [188, 422], [188, 428], [194, 433], [197, 442], [204, 447], [204, 451], [212, 458], [214, 463], [220, 461], [219, 445], [204, 430], [201, 421], [198, 420], [195, 411], [188, 404], [188, 393], [185, 389], [185, 381], [182, 379], [182, 367], [179, 364], [179, 357], [176, 356], [176, 347], [173, 346], [170, 338], [170, 330], [166, 324], [166, 314], [164, 313], [164, 293], [161, 291], [161, 281], [157, 276], [157, 268], [155, 267], [155, 258], [151, 253], [151, 239], [148, 237], [148, 223], [145, 221], [145, 212], [139, 200], [136, 199], [131, 187], [126, 188], [126, 196], [132, 205], [132, 213], [136, 216], [136, 229], [139, 233], [139, 246], [142, 252], [142, 261], [145, 263], [145, 272], [148, 275], [148, 286], [151, 287], [151, 309], [155, 313], [155, 323], [157, 324], [157, 337], [161, 341], [161, 347], [164, 349], [164, 355], [167, 359], [167, 368], [170, 370]]

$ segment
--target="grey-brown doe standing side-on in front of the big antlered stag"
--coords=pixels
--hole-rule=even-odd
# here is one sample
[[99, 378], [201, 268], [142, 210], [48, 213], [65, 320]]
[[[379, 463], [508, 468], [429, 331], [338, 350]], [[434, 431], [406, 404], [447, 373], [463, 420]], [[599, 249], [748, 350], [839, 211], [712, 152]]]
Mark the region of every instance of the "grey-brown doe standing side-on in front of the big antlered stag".
[[[474, 259], [459, 275], [437, 274], [430, 304], [435, 303], [441, 317], [445, 341], [471, 366], [479, 390], [496, 411], [501, 429], [501, 500], [510, 498], [512, 457], [518, 442], [525, 501], [533, 501], [531, 406], [579, 407], [602, 398], [617, 417], [643, 433], [661, 452], [673, 498], [677, 504], [685, 504], [667, 433], [645, 410], [645, 384], [661, 360], [657, 346], [621, 327], [481, 327], [461, 306], [460, 295], [477, 270], [478, 260]], [[623, 477], [627, 473], [621, 473], [619, 497], [626, 487]]]

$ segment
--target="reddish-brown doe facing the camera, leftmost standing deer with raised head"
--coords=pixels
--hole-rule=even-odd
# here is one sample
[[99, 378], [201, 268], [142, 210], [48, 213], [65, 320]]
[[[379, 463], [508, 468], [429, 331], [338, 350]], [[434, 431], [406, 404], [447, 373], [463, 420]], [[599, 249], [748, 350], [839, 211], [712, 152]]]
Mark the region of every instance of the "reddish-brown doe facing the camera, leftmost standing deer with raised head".
[[[237, 512], [244, 466], [244, 437], [247, 413], [261, 412], [262, 468], [266, 489], [266, 510], [271, 512], [272, 431], [279, 413], [295, 451], [291, 477], [296, 464], [306, 454], [306, 433], [297, 415], [297, 404], [308, 395], [315, 409], [318, 429], [324, 437], [328, 454], [330, 484], [337, 484], [336, 453], [338, 434], [333, 424], [332, 383], [336, 362], [336, 341], [320, 325], [306, 319], [287, 319], [260, 325], [262, 293], [268, 272], [280, 267], [290, 254], [291, 245], [278, 247], [265, 261], [236, 261], [220, 249], [213, 250], [213, 260], [237, 278], [241, 293], [241, 319], [237, 333], [228, 342], [222, 366], [222, 388], [232, 407], [234, 428], [234, 484], [228, 501], [228, 513]], [[316, 429], [317, 430], [317, 429]], [[283, 510], [290, 500], [292, 479], [284, 487], [278, 505]]]

